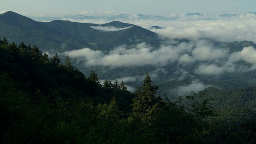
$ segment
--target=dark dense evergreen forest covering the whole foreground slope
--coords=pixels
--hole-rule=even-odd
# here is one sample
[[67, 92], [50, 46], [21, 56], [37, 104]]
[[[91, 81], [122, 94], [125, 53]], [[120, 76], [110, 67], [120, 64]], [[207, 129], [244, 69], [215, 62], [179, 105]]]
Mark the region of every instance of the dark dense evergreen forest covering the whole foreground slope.
[[147, 74], [132, 93], [67, 55], [0, 40], [0, 143], [256, 143], [256, 88], [210, 87], [172, 101]]

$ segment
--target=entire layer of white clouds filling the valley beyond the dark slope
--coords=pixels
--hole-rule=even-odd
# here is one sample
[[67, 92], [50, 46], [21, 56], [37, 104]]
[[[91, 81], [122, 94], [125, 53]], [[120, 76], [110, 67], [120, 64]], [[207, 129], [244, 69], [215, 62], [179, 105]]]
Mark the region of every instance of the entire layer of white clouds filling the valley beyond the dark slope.
[[[82, 48], [66, 51], [62, 55], [69, 55], [75, 65], [85, 67], [88, 71], [98, 69], [113, 73], [115, 70], [123, 70], [120, 75], [108, 75], [102, 79], [118, 82], [124, 80], [130, 90], [136, 89], [131, 83], [142, 83], [146, 72], [149, 72], [155, 82], [177, 82], [178, 85], [171, 89], [181, 95], [193, 90], [194, 86], [197, 90], [208, 86], [218, 87], [205, 82], [202, 79], [204, 77], [221, 79], [223, 76], [226, 78], [235, 73], [243, 74], [256, 70], [256, 49], [253, 47], [255, 45], [248, 42], [256, 43], [254, 13], [211, 16], [172, 14], [163, 17], [166, 19], [142, 19], [141, 15], [131, 14], [126, 18], [115, 19], [156, 32], [162, 40], [157, 48], [142, 42], [136, 46], [123, 44], [107, 53]], [[110, 21], [79, 20], [97, 24]], [[121, 30], [114, 27], [93, 28], [103, 31]], [[242, 42], [244, 40], [248, 41]], [[186, 84], [179, 83], [182, 80], [186, 80]]]

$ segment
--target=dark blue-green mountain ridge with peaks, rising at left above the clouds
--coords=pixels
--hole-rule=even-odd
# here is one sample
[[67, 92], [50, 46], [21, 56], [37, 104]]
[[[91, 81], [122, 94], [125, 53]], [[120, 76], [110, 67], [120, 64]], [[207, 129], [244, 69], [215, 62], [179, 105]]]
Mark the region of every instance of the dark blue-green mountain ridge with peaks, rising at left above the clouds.
[[[126, 28], [117, 31], [96, 30], [91, 26]], [[63, 20], [36, 22], [26, 16], [8, 11], [0, 14], [0, 36], [9, 42], [36, 44], [44, 51], [64, 52], [80, 48], [109, 51], [126, 44], [146, 42], [157, 45], [158, 35], [133, 24], [113, 21], [107, 24], [88, 24]]]

